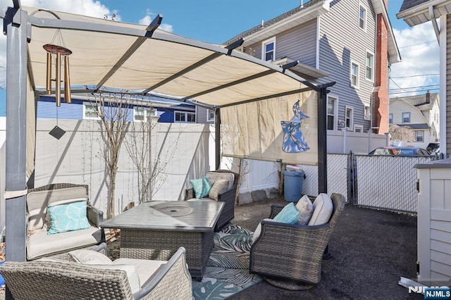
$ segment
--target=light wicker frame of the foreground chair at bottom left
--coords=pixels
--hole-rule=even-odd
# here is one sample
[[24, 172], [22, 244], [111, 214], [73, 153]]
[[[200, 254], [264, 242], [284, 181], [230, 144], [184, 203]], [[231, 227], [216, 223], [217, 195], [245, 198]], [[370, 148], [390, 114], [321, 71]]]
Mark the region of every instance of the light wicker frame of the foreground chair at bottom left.
[[[140, 260], [137, 260], [140, 261]], [[14, 299], [192, 299], [185, 249], [132, 294], [125, 270], [54, 261], [6, 262], [0, 273]]]

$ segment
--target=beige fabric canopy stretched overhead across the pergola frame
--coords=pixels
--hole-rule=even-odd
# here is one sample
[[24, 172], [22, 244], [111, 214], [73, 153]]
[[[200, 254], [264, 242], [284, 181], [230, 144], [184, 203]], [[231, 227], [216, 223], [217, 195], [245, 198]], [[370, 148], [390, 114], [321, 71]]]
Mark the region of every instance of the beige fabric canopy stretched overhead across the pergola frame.
[[240, 42], [225, 47], [159, 30], [156, 27], [161, 16], [146, 27], [39, 8], [23, 9], [32, 25], [30, 78], [42, 93], [47, 62], [42, 46], [58, 43], [72, 51], [73, 93], [77, 88], [80, 92], [86, 92], [86, 88], [121, 89], [223, 107], [316, 88], [287, 69], [294, 67], [293, 63], [279, 67], [233, 51]]

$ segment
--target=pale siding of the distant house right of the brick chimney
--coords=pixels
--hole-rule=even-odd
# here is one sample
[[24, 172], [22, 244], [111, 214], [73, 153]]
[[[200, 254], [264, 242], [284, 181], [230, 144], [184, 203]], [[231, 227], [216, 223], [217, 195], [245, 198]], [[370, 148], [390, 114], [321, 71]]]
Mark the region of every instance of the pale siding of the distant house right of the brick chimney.
[[[429, 124], [429, 120], [418, 108], [401, 99], [395, 99], [390, 102], [390, 113], [393, 113], [393, 124]], [[402, 113], [410, 113], [410, 123], [402, 123]], [[435, 142], [435, 135], [431, 136], [431, 130], [424, 129], [423, 131], [424, 142], [407, 142], [407, 144], [426, 149], [430, 142]]]

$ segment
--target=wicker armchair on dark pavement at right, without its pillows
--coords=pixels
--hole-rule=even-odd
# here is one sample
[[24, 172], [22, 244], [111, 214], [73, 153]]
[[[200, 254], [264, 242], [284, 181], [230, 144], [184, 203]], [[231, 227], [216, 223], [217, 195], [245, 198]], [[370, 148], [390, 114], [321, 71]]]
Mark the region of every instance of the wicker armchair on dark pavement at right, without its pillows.
[[[321, 259], [338, 217], [345, 207], [341, 194], [330, 196], [333, 213], [328, 223], [315, 226], [261, 221], [261, 234], [252, 244], [249, 273], [283, 282], [317, 285], [321, 280]], [[271, 216], [283, 206], [271, 206]]]

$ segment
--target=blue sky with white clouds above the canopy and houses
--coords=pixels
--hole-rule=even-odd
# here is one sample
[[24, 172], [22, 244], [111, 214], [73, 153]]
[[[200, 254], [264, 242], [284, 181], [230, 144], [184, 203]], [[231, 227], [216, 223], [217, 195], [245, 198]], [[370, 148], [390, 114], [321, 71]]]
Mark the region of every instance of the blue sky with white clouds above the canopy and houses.
[[[307, 0], [304, 1], [307, 3]], [[300, 0], [20, 0], [23, 6], [36, 6], [54, 11], [91, 15], [127, 23], [149, 22], [160, 13], [161, 29], [177, 35], [221, 44], [261, 20], [290, 11]], [[397, 20], [402, 0], [389, 1], [389, 18], [400, 48], [402, 62], [393, 64], [390, 72], [390, 97], [422, 94], [426, 89], [438, 92], [438, 42], [431, 23], [409, 27]], [[0, 8], [11, 6], [11, 0], [0, 0]], [[5, 111], [6, 38], [0, 37], [0, 115]]]

